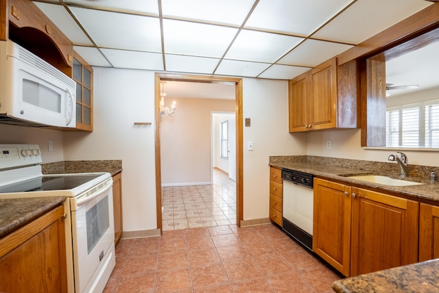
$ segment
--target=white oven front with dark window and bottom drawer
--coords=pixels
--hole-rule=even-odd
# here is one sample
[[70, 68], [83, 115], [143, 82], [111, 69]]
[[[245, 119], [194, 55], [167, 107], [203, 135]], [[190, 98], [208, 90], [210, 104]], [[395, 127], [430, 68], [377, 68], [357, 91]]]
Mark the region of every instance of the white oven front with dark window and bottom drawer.
[[103, 290], [115, 266], [112, 185], [71, 198], [71, 218], [75, 291]]

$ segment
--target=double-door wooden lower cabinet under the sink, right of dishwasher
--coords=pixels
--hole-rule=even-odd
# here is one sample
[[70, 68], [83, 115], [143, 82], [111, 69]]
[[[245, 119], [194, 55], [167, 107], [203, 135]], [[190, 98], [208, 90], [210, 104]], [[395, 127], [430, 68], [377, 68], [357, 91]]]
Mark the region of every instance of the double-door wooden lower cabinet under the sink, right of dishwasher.
[[413, 264], [418, 212], [416, 201], [314, 179], [313, 251], [346, 277]]

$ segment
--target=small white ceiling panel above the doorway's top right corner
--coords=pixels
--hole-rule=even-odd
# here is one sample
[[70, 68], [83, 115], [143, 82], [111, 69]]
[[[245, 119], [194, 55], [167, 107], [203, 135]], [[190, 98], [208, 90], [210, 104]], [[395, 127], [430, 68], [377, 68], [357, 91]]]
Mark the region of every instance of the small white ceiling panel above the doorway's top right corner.
[[257, 77], [268, 66], [270, 66], [268, 63], [222, 60], [215, 73], [219, 75]]

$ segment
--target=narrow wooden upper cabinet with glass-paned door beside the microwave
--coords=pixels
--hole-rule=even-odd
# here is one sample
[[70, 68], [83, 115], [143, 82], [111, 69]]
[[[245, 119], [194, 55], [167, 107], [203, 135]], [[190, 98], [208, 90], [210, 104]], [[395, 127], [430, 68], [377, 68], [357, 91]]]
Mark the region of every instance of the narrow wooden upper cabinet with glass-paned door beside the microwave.
[[93, 131], [93, 68], [73, 51], [76, 81], [76, 130]]

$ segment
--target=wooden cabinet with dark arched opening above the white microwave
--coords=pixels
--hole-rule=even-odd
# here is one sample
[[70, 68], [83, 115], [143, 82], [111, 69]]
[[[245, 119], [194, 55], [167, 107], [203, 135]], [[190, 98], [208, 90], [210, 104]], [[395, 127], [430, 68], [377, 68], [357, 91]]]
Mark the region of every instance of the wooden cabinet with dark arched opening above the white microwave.
[[[73, 44], [30, 0], [0, 0], [2, 38], [10, 39], [71, 77]], [[3, 16], [3, 7], [8, 15]], [[3, 29], [4, 27], [4, 29]]]

